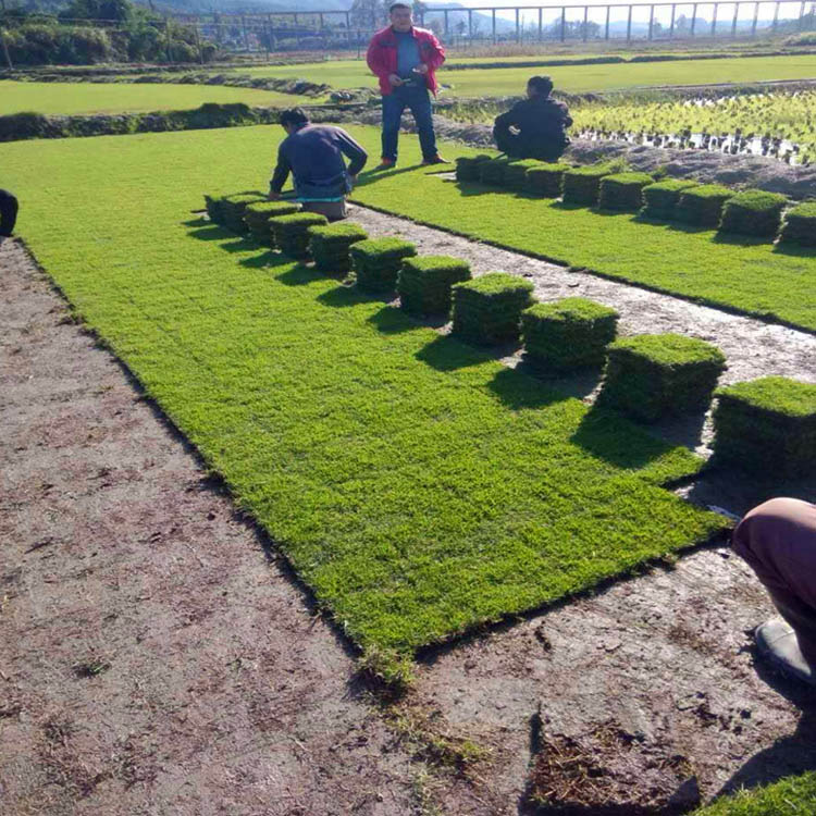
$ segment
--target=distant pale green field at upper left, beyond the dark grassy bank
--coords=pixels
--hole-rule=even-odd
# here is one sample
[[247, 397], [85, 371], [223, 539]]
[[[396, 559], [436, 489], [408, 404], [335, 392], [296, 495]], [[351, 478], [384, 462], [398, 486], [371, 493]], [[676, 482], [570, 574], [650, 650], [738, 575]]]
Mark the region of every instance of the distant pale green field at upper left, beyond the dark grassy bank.
[[0, 81], [0, 116], [34, 111], [50, 114], [181, 111], [205, 102], [245, 102], [290, 108], [312, 100], [292, 94], [219, 85], [18, 83]]

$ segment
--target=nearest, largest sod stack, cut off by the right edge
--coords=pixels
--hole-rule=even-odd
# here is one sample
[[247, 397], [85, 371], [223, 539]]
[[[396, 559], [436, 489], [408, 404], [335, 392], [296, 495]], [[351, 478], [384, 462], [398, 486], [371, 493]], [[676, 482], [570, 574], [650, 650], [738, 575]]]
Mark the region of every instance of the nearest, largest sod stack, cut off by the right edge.
[[717, 391], [715, 461], [795, 479], [816, 470], [816, 385], [765, 376]]

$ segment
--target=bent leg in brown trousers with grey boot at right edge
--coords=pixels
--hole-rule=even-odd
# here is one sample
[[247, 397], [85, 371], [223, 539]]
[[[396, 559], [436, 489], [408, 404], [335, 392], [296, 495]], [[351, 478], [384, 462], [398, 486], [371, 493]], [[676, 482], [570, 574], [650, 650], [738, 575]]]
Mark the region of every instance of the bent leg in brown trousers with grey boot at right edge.
[[759, 655], [786, 675], [816, 685], [816, 505], [771, 498], [740, 521], [731, 546], [779, 613], [756, 629]]

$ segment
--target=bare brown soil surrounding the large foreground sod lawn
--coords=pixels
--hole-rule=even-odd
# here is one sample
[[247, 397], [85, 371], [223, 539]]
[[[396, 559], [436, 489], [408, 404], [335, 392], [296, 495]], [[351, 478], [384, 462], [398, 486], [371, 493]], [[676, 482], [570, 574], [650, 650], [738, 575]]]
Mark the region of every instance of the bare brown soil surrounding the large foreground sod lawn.
[[[729, 379], [816, 379], [811, 335], [361, 208], [353, 218], [477, 271], [530, 274], [545, 299], [618, 305], [626, 332], [716, 339]], [[545, 771], [554, 750], [592, 758], [610, 734], [628, 747], [603, 755], [607, 776], [643, 777], [664, 804], [675, 787], [708, 799], [816, 767], [816, 703], [753, 665], [750, 629], [770, 607], [725, 546], [429, 650], [412, 691], [385, 706], [274, 545], [69, 322], [21, 245], [0, 246], [0, 270], [3, 812], [493, 816], [528, 812], [544, 779], [566, 791], [552, 805], [606, 813], [626, 784], [576, 802], [569, 777]], [[595, 387], [561, 385], [588, 399]], [[701, 422], [695, 433], [704, 449]], [[757, 490], [712, 477], [685, 492], [742, 512]], [[461, 770], [465, 738], [481, 758]], [[641, 775], [648, 756], [668, 774]], [[630, 804], [647, 800], [630, 789]]]

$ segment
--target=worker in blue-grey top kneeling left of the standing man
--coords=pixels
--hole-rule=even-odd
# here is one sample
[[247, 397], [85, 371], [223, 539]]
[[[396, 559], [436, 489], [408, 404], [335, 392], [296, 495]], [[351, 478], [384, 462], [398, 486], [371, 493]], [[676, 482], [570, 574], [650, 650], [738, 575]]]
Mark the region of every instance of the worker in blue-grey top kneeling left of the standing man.
[[[318, 212], [330, 221], [346, 218], [346, 195], [368, 153], [344, 129], [313, 125], [301, 108], [281, 113], [288, 134], [277, 148], [277, 166], [269, 184], [269, 200], [281, 197], [292, 171], [295, 197], [307, 212]], [[349, 159], [348, 170], [343, 157]]]

